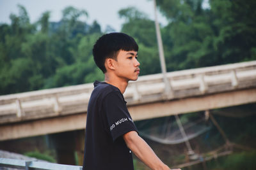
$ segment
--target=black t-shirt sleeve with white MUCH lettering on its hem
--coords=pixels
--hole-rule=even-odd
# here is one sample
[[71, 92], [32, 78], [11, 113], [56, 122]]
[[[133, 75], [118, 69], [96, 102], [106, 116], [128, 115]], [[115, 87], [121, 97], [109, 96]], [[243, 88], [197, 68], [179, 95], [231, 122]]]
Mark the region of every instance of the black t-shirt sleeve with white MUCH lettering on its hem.
[[127, 132], [138, 132], [120, 92], [110, 92], [104, 97], [103, 108], [108, 119], [107, 131], [113, 141]]

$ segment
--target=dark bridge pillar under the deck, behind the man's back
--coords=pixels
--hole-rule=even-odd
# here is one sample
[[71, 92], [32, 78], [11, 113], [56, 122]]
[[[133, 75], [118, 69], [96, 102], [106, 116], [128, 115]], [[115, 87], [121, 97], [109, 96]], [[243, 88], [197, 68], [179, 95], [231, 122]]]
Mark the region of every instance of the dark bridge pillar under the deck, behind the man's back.
[[83, 165], [84, 130], [50, 134], [58, 164]]

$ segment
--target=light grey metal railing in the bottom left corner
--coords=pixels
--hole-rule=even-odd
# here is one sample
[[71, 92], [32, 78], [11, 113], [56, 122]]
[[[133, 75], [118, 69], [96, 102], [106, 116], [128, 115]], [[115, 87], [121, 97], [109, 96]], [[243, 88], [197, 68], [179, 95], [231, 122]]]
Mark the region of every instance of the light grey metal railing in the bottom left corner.
[[48, 162], [39, 162], [39, 161], [27, 161], [19, 159], [7, 159], [0, 158], [0, 169], [1, 167], [10, 167], [16, 169], [35, 169], [35, 170], [82, 170], [81, 166], [69, 166], [63, 164], [54, 164]]

